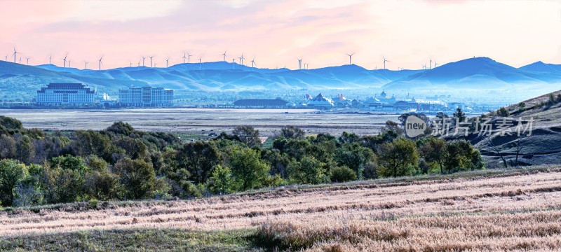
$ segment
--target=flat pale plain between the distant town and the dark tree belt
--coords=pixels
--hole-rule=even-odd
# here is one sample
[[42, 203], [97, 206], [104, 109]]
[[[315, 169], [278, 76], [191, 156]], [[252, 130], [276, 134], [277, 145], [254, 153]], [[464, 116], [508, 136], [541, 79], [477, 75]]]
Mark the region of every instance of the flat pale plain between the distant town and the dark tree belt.
[[286, 125], [295, 125], [307, 134], [376, 134], [386, 120], [398, 115], [370, 113], [317, 113], [311, 109], [116, 109], [116, 110], [29, 110], [0, 109], [0, 115], [22, 121], [24, 127], [41, 130], [103, 130], [116, 121], [136, 130], [219, 134], [238, 125], [252, 125], [270, 137]]

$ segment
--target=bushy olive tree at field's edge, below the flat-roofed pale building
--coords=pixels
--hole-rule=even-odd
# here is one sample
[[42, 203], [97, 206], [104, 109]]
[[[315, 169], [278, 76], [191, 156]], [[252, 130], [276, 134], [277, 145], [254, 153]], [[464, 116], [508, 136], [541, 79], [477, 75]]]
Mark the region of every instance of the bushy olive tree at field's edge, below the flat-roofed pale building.
[[154, 192], [156, 173], [148, 162], [123, 158], [114, 165], [114, 173], [119, 175], [128, 199], [144, 199]]

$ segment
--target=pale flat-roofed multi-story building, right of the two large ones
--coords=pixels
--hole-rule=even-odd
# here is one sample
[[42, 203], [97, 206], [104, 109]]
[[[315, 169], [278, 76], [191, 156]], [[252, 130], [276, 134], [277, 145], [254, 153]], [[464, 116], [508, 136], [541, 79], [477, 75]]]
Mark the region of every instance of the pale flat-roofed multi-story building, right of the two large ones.
[[131, 87], [119, 90], [121, 106], [173, 106], [173, 90], [163, 87]]

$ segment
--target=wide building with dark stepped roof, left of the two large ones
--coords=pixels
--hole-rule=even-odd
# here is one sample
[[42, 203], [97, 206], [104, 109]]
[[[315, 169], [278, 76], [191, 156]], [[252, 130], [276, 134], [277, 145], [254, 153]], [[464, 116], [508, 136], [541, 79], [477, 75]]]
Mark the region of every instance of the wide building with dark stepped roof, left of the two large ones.
[[37, 90], [37, 104], [41, 106], [93, 105], [95, 90], [81, 83], [49, 83]]

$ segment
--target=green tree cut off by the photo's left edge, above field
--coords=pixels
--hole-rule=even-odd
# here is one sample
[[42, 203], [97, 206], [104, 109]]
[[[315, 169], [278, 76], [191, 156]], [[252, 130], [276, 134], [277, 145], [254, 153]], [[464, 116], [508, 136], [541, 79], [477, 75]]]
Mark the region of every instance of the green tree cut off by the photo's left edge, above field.
[[11, 206], [14, 201], [14, 189], [27, 174], [27, 167], [17, 160], [0, 160], [0, 202]]

